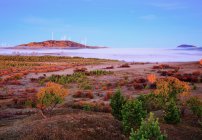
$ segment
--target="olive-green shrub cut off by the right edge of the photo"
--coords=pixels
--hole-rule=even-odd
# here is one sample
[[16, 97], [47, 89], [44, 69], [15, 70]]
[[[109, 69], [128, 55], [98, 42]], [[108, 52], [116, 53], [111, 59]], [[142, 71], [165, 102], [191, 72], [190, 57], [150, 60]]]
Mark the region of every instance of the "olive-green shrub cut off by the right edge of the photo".
[[200, 101], [197, 97], [192, 97], [187, 101], [187, 104], [193, 114], [200, 119], [202, 117], [202, 101]]

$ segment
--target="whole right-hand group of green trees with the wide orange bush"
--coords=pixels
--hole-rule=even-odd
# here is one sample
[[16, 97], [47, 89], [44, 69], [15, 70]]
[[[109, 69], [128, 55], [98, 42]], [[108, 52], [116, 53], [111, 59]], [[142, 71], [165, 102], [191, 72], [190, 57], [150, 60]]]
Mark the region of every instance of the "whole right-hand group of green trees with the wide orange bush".
[[112, 96], [110, 105], [112, 115], [122, 122], [126, 134], [131, 128], [137, 130], [131, 131], [131, 140], [166, 138], [160, 132], [158, 119], [154, 119], [153, 114], [145, 119], [147, 112], [163, 110], [164, 121], [168, 124], [181, 121], [182, 106], [189, 107], [199, 120], [202, 116], [202, 102], [198, 98], [190, 98], [189, 85], [173, 77], [158, 79], [153, 93], [140, 95], [136, 99], [126, 100], [118, 90]]

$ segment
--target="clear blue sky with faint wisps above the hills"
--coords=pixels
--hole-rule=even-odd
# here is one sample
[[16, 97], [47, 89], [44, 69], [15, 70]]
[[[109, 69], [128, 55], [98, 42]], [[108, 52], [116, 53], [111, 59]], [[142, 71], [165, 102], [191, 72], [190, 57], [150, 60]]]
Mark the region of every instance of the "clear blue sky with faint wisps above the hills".
[[0, 46], [70, 39], [114, 48], [202, 46], [201, 0], [0, 0]]

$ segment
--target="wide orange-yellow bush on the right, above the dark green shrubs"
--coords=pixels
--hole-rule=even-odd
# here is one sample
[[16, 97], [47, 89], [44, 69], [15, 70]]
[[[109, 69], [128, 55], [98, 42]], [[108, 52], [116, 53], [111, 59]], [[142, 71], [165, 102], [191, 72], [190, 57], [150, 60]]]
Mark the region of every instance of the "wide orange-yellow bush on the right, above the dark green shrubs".
[[163, 96], [165, 99], [177, 99], [181, 94], [190, 93], [190, 87], [186, 82], [182, 82], [174, 77], [158, 79], [155, 94]]

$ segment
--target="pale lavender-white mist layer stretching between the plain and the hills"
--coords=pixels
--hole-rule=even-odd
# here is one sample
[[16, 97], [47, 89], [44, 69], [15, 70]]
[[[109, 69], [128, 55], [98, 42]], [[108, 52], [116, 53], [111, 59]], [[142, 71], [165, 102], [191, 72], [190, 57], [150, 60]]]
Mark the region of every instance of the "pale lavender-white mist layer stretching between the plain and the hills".
[[115, 59], [127, 62], [189, 62], [202, 58], [200, 49], [0, 49], [0, 55], [53, 55]]

